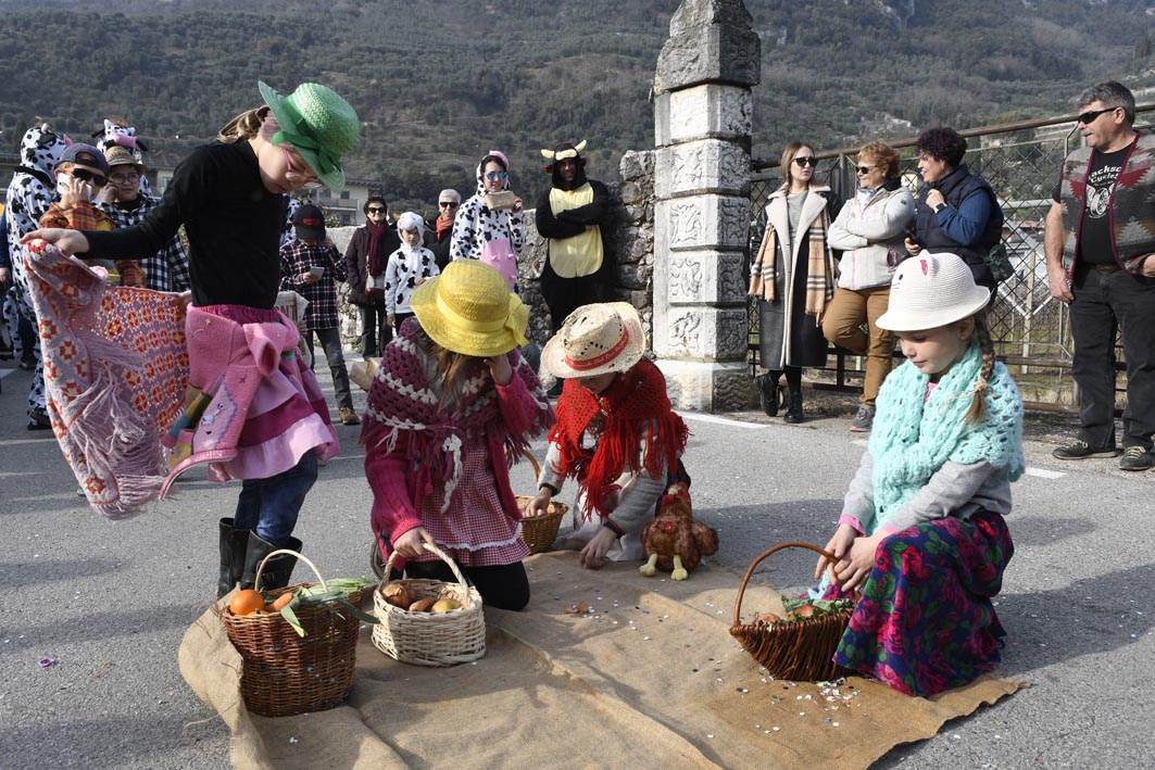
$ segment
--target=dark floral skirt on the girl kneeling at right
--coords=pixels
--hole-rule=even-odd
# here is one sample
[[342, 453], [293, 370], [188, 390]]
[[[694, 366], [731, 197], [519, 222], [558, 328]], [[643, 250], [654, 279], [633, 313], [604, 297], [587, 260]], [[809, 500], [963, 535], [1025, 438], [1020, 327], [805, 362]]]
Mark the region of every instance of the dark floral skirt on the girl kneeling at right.
[[[1012, 554], [1011, 532], [991, 511], [886, 538], [834, 661], [923, 697], [990, 671], [1006, 636], [991, 597]], [[839, 595], [832, 586], [826, 598]]]

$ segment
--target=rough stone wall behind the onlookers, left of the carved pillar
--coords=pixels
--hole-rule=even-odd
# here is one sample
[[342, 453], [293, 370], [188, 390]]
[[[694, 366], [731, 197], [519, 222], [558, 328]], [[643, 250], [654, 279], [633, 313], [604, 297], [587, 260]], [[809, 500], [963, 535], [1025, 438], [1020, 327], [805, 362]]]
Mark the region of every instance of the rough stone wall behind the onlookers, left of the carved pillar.
[[[619, 166], [621, 181], [609, 185], [610, 216], [605, 224], [606, 245], [617, 266], [614, 301], [629, 302], [642, 316], [647, 350], [651, 347], [654, 320], [654, 152], [626, 152]], [[546, 242], [534, 226], [534, 212], [526, 212], [526, 248], [519, 260], [521, 298], [529, 306], [527, 336], [538, 344], [550, 338], [550, 314], [538, 290], [537, 275], [545, 261]], [[329, 237], [342, 254], [355, 227], [330, 227]], [[349, 289], [338, 289], [341, 338], [346, 347], [359, 345], [357, 307], [346, 301]]]

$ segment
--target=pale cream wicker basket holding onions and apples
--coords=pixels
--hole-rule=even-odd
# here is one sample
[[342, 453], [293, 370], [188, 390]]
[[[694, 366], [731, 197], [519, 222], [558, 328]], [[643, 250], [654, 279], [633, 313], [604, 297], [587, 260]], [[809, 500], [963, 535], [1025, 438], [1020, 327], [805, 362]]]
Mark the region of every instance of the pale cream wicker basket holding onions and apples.
[[[409, 612], [385, 600], [381, 588], [373, 591], [373, 611], [380, 623], [373, 627], [373, 645], [401, 663], [417, 666], [453, 666], [477, 660], [485, 655], [485, 615], [482, 612], [482, 596], [477, 589], [465, 583], [457, 565], [440, 548], [429, 543], [422, 544], [426, 551], [437, 554], [449, 565], [456, 583], [431, 580], [394, 581], [405, 586], [413, 600], [450, 598], [461, 601], [461, 610], [449, 612]], [[393, 569], [394, 551], [385, 562], [385, 574]]]

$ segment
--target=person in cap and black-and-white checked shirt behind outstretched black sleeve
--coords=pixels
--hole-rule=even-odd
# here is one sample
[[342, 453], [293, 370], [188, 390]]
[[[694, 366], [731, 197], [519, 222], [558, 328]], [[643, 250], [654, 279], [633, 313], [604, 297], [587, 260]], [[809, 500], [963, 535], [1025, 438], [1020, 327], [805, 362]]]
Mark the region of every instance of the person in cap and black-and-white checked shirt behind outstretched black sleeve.
[[[118, 227], [129, 227], [144, 220], [159, 201], [142, 190], [141, 179], [144, 164], [132, 150], [119, 144], [105, 148], [104, 158], [109, 163], [109, 184], [97, 196], [102, 211], [109, 215]], [[144, 286], [155, 291], [181, 292], [188, 290], [188, 255], [174, 236], [164, 249], [140, 260], [144, 271]]]

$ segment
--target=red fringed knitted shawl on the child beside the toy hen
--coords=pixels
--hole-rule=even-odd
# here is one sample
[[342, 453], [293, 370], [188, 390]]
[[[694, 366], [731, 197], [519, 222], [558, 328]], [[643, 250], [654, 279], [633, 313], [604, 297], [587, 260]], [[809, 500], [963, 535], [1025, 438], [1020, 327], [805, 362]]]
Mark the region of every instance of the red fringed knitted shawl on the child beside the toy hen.
[[[597, 448], [583, 449], [582, 433], [599, 414], [605, 418], [605, 427]], [[638, 441], [647, 420], [656, 421], [656, 431], [646, 440], [642, 469]], [[618, 489], [614, 481], [626, 469], [657, 477], [675, 473], [688, 436], [686, 424], [670, 406], [665, 377], [646, 360], [619, 374], [601, 396], [576, 380], [566, 380], [558, 399], [558, 421], [550, 428], [550, 441], [561, 450], [560, 472], [575, 477], [584, 493], [582, 515], [587, 519], [595, 511], [599, 517], [610, 515], [606, 501]]]

